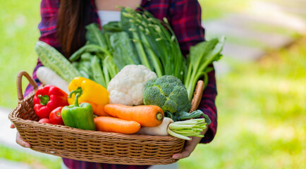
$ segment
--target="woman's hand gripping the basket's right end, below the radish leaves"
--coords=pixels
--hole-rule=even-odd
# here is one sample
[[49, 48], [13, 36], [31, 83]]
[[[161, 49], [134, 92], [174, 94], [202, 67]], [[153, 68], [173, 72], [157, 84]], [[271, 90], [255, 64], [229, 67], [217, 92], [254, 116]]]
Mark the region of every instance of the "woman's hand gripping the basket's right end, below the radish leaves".
[[[204, 135], [207, 132], [207, 130], [208, 130], [208, 127], [205, 130], [203, 130], [201, 134]], [[185, 150], [181, 152], [180, 154], [173, 154], [172, 158], [182, 159], [182, 158], [186, 158], [190, 156], [190, 154], [195, 149], [195, 147], [197, 146], [197, 144], [200, 142], [201, 139], [202, 139], [201, 137], [191, 137], [191, 139], [188, 140], [186, 143]]]

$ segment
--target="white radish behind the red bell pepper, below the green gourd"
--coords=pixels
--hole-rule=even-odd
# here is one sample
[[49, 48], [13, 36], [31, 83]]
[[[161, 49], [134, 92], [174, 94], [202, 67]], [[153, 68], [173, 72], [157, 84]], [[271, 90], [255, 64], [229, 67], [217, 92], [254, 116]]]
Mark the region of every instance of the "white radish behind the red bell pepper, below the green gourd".
[[68, 90], [68, 82], [63, 80], [59, 75], [57, 75], [53, 70], [50, 68], [41, 66], [36, 71], [37, 78], [40, 82], [43, 84], [51, 84], [56, 87], [59, 87], [59, 89], [63, 90], [63, 92], [66, 92], [66, 94], [69, 94]]

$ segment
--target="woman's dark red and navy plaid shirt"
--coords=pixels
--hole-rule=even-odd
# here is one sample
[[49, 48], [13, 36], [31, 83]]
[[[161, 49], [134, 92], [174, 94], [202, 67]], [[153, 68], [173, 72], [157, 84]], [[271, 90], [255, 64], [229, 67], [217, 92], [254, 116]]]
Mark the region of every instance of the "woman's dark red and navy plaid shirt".
[[[162, 20], [166, 17], [178, 38], [180, 49], [184, 56], [188, 54], [189, 48], [198, 42], [204, 41], [204, 29], [201, 25], [201, 8], [197, 0], [142, 0], [142, 8], [152, 13], [156, 18]], [[94, 5], [94, 0], [91, 1], [91, 23], [100, 23], [97, 15], [97, 9]], [[59, 39], [56, 37], [56, 23], [57, 12], [59, 10], [58, 0], [42, 0], [40, 6], [40, 13], [42, 21], [39, 23], [39, 31], [41, 36], [40, 41], [54, 46], [54, 48], [61, 51]], [[32, 77], [37, 84], [40, 84], [37, 80], [36, 70], [42, 63], [37, 61], [37, 66], [33, 72]], [[209, 130], [205, 134], [205, 137], [200, 143], [209, 143], [214, 139], [216, 134], [216, 79], [214, 70], [208, 73], [209, 82], [206, 89], [203, 92], [202, 100], [200, 102], [200, 110], [209, 116], [212, 123], [209, 125]], [[32, 91], [32, 86], [27, 86], [25, 95]], [[89, 163], [84, 161], [75, 161], [71, 159], [63, 158], [63, 162], [68, 168], [148, 168], [148, 165], [112, 165], [112, 164], [99, 164]]]

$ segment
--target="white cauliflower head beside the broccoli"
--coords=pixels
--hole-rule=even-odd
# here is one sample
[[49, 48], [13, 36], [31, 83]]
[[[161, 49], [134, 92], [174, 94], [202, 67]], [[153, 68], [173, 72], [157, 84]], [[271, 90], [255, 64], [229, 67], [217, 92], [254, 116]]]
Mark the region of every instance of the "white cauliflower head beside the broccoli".
[[109, 102], [126, 106], [143, 104], [145, 84], [154, 78], [157, 78], [156, 73], [145, 65], [126, 65], [107, 86]]

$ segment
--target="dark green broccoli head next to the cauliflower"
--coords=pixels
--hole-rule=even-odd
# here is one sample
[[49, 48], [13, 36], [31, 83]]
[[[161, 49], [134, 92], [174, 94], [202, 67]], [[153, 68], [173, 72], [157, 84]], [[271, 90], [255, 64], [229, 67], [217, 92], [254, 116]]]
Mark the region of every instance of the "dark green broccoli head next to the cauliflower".
[[191, 102], [188, 99], [184, 84], [172, 75], [149, 80], [143, 96], [145, 105], [157, 105], [164, 112], [176, 113], [190, 111]]

